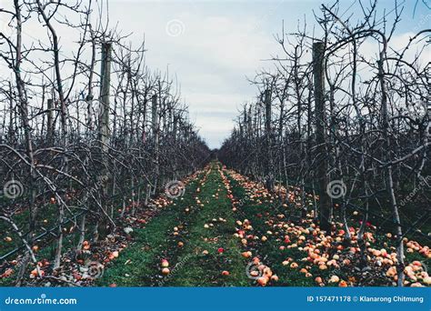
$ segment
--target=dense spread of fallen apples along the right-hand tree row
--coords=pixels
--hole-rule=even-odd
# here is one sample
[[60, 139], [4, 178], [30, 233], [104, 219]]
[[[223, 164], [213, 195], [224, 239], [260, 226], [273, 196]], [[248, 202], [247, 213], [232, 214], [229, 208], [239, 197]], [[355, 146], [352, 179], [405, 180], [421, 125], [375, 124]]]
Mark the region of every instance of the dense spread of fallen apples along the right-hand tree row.
[[[227, 171], [227, 174], [239, 186], [244, 187], [247, 199], [252, 202], [251, 205], [262, 206], [264, 203], [270, 204], [275, 201], [275, 196], [268, 193], [262, 184], [250, 181], [245, 176], [241, 176], [232, 170]], [[228, 180], [226, 183], [228, 183]], [[278, 193], [279, 196], [287, 197], [289, 204], [284, 204], [283, 208], [296, 207], [298, 203], [298, 207], [301, 207], [300, 188], [289, 187], [286, 190], [280, 187]], [[306, 198], [308, 204], [313, 204], [312, 201], [318, 199], [317, 196], [314, 197], [309, 194], [306, 195]], [[242, 201], [236, 198], [233, 198], [232, 201], [233, 208], [243, 208], [244, 213], [247, 213], [247, 206], [242, 204]], [[305, 277], [315, 275], [316, 283], [319, 286], [326, 286], [326, 284], [332, 286], [357, 286], [360, 284], [359, 279], [361, 276], [355, 272], [356, 264], [354, 264], [359, 262], [361, 256], [358, 244], [359, 226], [346, 228], [343, 223], [333, 222], [332, 232], [328, 235], [314, 223], [314, 211], [309, 212], [306, 218], [296, 224], [293, 221], [286, 220], [286, 217], [280, 211], [277, 211], [277, 208], [274, 208], [274, 210], [274, 215], [264, 211], [256, 214], [257, 218], [265, 220], [265, 225], [256, 229], [250, 219], [236, 220], [236, 233], [234, 236], [246, 248], [242, 256], [250, 257], [252, 251], [256, 250], [257, 241], [260, 246], [264, 243], [269, 243], [276, 246], [282, 258], [287, 250], [294, 251], [292, 254], [296, 255], [295, 259], [285, 257], [285, 259], [281, 260], [281, 266], [297, 269]], [[241, 214], [244, 215], [244, 213]], [[350, 239], [346, 240], [346, 236], [350, 236]], [[379, 271], [379, 275], [383, 278], [387, 277], [387, 281], [395, 285], [397, 265], [396, 247], [393, 246], [395, 238], [391, 233], [379, 235], [376, 231], [376, 226], [370, 223], [366, 224], [366, 232], [362, 238], [366, 245], [366, 266], [372, 267], [374, 273]], [[431, 258], [429, 246], [421, 246], [418, 242], [408, 240], [406, 237], [403, 243], [406, 246], [406, 253], [416, 254], [416, 257], [422, 256], [425, 260]], [[252, 246], [253, 249], [250, 248]], [[304, 255], [298, 255], [301, 253]], [[345, 272], [343, 274], [344, 279], [336, 274], [331, 275], [332, 271], [339, 271], [340, 269]], [[406, 286], [430, 286], [431, 277], [428, 276], [425, 267], [420, 261], [406, 262], [405, 275]], [[265, 283], [264, 280], [261, 282]]]

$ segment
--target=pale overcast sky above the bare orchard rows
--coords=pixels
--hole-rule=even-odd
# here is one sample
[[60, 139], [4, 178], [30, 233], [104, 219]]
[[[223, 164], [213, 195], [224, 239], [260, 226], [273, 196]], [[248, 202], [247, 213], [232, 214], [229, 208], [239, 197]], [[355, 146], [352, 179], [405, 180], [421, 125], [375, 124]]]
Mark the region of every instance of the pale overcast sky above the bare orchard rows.
[[[207, 144], [215, 148], [229, 135], [238, 108], [256, 96], [255, 86], [246, 77], [269, 66], [266, 59], [272, 55], [283, 55], [274, 38], [281, 34], [282, 21], [286, 33], [294, 32], [298, 21], [305, 19], [311, 30], [316, 24], [313, 10], [320, 14], [321, 2], [110, 0], [109, 15], [110, 25], [132, 32], [131, 40], [136, 44], [145, 35], [146, 64], [152, 70], [168, 67], [169, 73], [177, 76], [192, 121]], [[350, 8], [344, 17], [360, 16], [358, 0], [340, 2], [342, 12]], [[385, 9], [392, 10], [394, 3], [380, 0], [380, 15]], [[418, 0], [417, 5], [416, 0], [398, 0], [398, 4], [404, 4], [405, 11], [393, 41], [402, 46], [409, 35], [431, 27], [427, 7], [431, 7], [431, 0]], [[9, 6], [10, 0], [0, 0], [3, 5]], [[63, 45], [66, 41], [61, 38]]]

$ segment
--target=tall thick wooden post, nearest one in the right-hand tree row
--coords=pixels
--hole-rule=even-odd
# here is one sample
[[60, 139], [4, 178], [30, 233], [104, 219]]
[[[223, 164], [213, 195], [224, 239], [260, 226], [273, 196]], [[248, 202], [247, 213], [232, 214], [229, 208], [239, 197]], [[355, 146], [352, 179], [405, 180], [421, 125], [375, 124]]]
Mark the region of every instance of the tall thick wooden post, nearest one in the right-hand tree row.
[[316, 109], [316, 154], [318, 156], [316, 179], [319, 185], [320, 200], [320, 226], [322, 230], [330, 232], [332, 203], [327, 189], [327, 150], [326, 150], [326, 109], [325, 109], [325, 44], [313, 44], [313, 75], [315, 82], [315, 109]]

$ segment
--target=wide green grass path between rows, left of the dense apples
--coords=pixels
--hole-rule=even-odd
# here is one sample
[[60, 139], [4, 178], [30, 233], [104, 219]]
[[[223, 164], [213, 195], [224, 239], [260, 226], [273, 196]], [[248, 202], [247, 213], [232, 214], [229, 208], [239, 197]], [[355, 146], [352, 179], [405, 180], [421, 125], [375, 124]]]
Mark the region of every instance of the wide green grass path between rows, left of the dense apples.
[[[98, 285], [249, 286], [220, 167], [211, 166], [143, 229], [106, 269]], [[161, 261], [170, 273], [162, 275]], [[225, 271], [224, 274], [223, 271]], [[227, 275], [228, 273], [228, 275]]]

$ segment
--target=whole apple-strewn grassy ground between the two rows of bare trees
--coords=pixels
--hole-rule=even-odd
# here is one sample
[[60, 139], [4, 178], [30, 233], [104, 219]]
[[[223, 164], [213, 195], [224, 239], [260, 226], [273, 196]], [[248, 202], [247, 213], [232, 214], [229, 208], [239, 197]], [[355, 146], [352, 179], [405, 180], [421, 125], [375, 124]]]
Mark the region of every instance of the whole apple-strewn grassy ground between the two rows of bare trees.
[[[316, 225], [295, 187], [270, 194], [213, 162], [188, 176], [183, 196], [160, 196], [125, 216], [124, 226], [97, 243], [65, 254], [70, 260], [36, 286], [396, 286], [396, 238], [367, 223], [366, 253], [358, 246], [361, 213], [330, 234]], [[426, 243], [404, 238], [405, 286], [430, 286]], [[0, 280], [14, 273], [14, 263]]]

